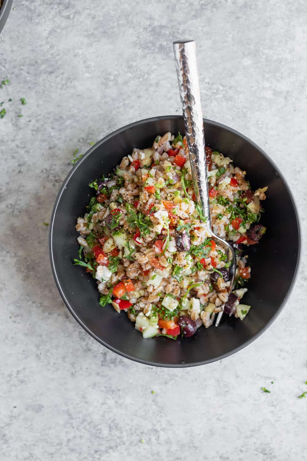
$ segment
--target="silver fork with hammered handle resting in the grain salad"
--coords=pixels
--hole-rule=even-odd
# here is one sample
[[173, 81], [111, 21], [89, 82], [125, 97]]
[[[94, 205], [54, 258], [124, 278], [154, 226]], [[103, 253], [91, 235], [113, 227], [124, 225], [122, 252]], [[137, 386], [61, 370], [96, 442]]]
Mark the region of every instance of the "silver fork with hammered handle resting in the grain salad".
[[[230, 285], [227, 287], [230, 293], [236, 272], [236, 255], [232, 246], [215, 235], [211, 227], [203, 113], [196, 64], [196, 45], [194, 40], [186, 40], [174, 41], [173, 46], [196, 201], [203, 209], [203, 215], [207, 222], [208, 236], [216, 240], [225, 249], [226, 254], [228, 254], [228, 260], [231, 261], [231, 266], [229, 267]], [[219, 325], [222, 318], [224, 305], [222, 308], [222, 311], [217, 316], [215, 326]], [[214, 317], [211, 317], [211, 319], [213, 323]]]

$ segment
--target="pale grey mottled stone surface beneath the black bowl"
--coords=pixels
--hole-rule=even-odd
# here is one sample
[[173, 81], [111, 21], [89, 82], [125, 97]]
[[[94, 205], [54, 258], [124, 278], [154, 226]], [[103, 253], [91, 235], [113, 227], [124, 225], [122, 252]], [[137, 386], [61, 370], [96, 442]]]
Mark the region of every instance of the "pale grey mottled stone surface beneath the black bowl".
[[0, 36], [0, 79], [11, 81], [0, 89], [1, 461], [306, 460], [304, 260], [283, 312], [249, 347], [207, 366], [153, 368], [105, 349], [71, 317], [42, 224], [76, 148], [180, 113], [172, 41], [193, 37], [204, 115], [266, 150], [304, 231], [305, 0], [13, 6]]

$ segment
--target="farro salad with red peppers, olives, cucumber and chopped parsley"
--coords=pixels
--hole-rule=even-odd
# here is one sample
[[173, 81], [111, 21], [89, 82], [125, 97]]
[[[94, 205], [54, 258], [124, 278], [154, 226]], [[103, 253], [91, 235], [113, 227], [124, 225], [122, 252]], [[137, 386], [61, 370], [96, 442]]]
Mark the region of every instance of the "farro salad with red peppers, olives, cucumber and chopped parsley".
[[[111, 304], [144, 338], [190, 337], [224, 312], [243, 320], [250, 278], [244, 245], [266, 231], [259, 224], [267, 187], [253, 192], [245, 171], [207, 147], [212, 229], [237, 256], [233, 290], [230, 262], [212, 240], [196, 203], [185, 137], [165, 133], [153, 146], [133, 149], [114, 173], [89, 184], [96, 191], [77, 219], [79, 259], [97, 280], [100, 305]], [[84, 261], [81, 260], [81, 255]]]

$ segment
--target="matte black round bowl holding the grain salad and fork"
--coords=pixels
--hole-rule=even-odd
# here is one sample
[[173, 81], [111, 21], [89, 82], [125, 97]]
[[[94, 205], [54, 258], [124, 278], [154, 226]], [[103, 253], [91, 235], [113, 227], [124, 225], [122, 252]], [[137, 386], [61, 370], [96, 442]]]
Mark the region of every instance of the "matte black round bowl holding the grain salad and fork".
[[127, 125], [106, 136], [78, 161], [64, 181], [50, 223], [50, 258], [58, 290], [70, 312], [99, 343], [129, 359], [156, 366], [195, 366], [219, 360], [242, 349], [276, 319], [295, 281], [300, 255], [300, 227], [295, 204], [284, 178], [272, 160], [235, 130], [204, 120], [206, 145], [233, 159], [247, 171], [252, 189], [268, 186], [264, 202], [267, 226], [258, 245], [250, 247], [252, 278], [244, 304], [252, 306], [241, 321], [223, 318], [218, 328], [201, 327], [191, 338], [143, 339], [125, 313], [100, 307], [97, 285], [84, 268], [73, 266], [78, 257], [75, 222], [86, 212], [88, 183], [112, 169], [135, 147], [152, 145], [167, 131], [183, 133], [180, 116], [155, 117]]

